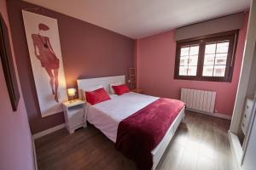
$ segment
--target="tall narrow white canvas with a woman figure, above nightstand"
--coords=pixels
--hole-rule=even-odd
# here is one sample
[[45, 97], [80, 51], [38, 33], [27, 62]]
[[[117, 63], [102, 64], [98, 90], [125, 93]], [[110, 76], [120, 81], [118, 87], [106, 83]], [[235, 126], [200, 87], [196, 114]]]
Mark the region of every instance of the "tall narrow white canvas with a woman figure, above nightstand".
[[62, 111], [67, 88], [57, 20], [22, 10], [26, 41], [42, 116]]

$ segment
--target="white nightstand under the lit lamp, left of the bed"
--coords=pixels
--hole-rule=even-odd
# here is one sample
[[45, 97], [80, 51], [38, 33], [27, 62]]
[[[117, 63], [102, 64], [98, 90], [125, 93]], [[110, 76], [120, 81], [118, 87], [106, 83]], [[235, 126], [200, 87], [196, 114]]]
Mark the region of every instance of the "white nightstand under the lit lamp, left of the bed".
[[75, 99], [72, 103], [69, 101], [63, 103], [64, 117], [67, 131], [74, 133], [79, 127], [86, 127], [85, 102], [81, 99]]

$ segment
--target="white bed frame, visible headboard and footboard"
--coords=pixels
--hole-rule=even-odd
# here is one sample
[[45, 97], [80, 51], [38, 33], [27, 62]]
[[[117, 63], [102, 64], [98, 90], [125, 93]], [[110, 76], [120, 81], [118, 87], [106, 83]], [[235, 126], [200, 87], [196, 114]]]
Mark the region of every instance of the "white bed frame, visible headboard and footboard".
[[[83, 96], [84, 89], [88, 89], [88, 88], [91, 88], [91, 87], [101, 84], [103, 86], [103, 88], [105, 88], [106, 91], [110, 94], [109, 84], [113, 83], [113, 82], [124, 82], [125, 83], [125, 76], [79, 79], [77, 82], [78, 82], [78, 88], [79, 88], [79, 98], [84, 99], [84, 96]], [[169, 127], [169, 129], [167, 130], [166, 135], [160, 141], [160, 144], [158, 144], [154, 148], [154, 150], [151, 151], [151, 154], [153, 156], [152, 170], [154, 170], [156, 168], [156, 166], [158, 165], [160, 158], [163, 156], [163, 154], [166, 150], [166, 147], [170, 143], [174, 133], [177, 130], [178, 125], [180, 124], [180, 122], [182, 122], [182, 120], [185, 116], [184, 110], [185, 109], [183, 108], [183, 110], [180, 111], [180, 113], [178, 114], [178, 116], [176, 117], [174, 122], [172, 122], [171, 127]]]

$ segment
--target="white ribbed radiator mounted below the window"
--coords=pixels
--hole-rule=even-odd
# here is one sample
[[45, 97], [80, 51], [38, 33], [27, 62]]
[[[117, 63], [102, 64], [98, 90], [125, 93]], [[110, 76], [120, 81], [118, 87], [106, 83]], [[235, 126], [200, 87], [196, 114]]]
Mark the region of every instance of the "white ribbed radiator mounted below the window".
[[195, 111], [214, 112], [216, 92], [181, 88], [181, 100], [187, 109]]

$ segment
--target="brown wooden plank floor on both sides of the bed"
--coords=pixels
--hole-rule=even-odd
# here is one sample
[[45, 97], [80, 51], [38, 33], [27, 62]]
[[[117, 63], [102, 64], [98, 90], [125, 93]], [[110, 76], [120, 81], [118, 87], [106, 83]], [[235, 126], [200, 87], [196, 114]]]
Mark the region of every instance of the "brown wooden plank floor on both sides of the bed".
[[[157, 169], [233, 170], [227, 132], [230, 122], [186, 113]], [[135, 164], [114, 149], [114, 144], [95, 127], [69, 135], [61, 129], [36, 139], [39, 170], [128, 170]]]

